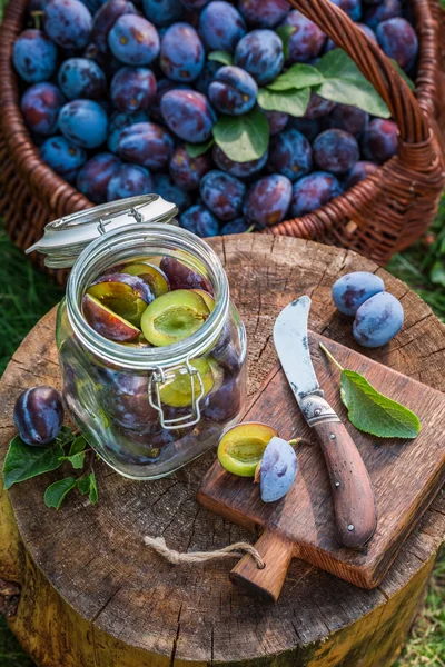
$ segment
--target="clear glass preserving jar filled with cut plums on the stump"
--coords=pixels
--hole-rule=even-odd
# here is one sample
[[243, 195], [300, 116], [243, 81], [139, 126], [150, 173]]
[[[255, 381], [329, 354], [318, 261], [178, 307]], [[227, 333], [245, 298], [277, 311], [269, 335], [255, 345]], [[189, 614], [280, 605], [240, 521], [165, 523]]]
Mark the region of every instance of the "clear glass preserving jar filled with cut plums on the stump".
[[[97, 208], [102, 213], [107, 205]], [[98, 222], [95, 209], [88, 215]], [[166, 347], [139, 348], [108, 340], [88, 325], [81, 301], [91, 282], [129, 260], [150, 257], [156, 263], [166, 256], [211, 285], [215, 309], [195, 334]], [[139, 220], [106, 233], [102, 226], [102, 236], [88, 243], [71, 270], [56, 340], [76, 426], [126, 477], [174, 472], [214, 447], [244, 410], [246, 334], [222, 265], [204, 240], [165, 221]]]

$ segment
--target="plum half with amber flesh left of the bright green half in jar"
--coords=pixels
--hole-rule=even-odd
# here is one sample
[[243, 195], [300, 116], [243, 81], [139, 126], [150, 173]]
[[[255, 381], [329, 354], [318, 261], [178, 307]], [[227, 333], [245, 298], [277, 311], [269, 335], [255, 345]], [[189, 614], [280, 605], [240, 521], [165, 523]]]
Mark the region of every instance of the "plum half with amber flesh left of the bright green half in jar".
[[127, 273], [102, 276], [88, 288], [87, 293], [136, 327], [147, 306], [155, 299], [147, 282]]

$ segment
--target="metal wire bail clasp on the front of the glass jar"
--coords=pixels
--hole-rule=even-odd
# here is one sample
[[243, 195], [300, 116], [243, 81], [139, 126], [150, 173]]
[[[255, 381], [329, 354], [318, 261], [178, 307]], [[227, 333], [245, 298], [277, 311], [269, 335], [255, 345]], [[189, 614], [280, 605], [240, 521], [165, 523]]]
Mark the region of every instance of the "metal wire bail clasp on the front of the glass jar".
[[[178, 374], [187, 374], [190, 377], [190, 395], [191, 395], [191, 410], [187, 415], [181, 415], [176, 419], [166, 419], [162, 410], [162, 401], [160, 398], [160, 389], [161, 386], [170, 380], [175, 380], [178, 377]], [[196, 395], [195, 389], [195, 378], [197, 378], [199, 384], [199, 394]], [[162, 368], [156, 368], [151, 377], [148, 381], [148, 402], [155, 410], [159, 412], [159, 422], [162, 428], [167, 430], [175, 430], [176, 428], [186, 428], [189, 426], [195, 426], [201, 418], [201, 411], [199, 408], [199, 402], [204, 397], [205, 388], [202, 378], [197, 368], [194, 368], [190, 364], [190, 360], [187, 359], [184, 365], [175, 366], [169, 368], [168, 370], [164, 370]]]

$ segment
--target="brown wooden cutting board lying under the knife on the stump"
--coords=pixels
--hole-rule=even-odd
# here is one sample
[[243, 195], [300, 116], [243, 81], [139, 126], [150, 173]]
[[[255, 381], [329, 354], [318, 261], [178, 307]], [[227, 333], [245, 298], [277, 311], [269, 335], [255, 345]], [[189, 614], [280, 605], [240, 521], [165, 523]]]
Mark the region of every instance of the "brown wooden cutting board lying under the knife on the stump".
[[[379, 391], [416, 412], [422, 431], [414, 440], [380, 439], [358, 431], [339, 396], [339, 371], [318, 347], [323, 341], [344, 368], [356, 370]], [[374, 486], [378, 522], [359, 551], [336, 540], [332, 491], [325, 461], [279, 365], [247, 409], [244, 421], [263, 421], [283, 438], [310, 440], [296, 448], [299, 470], [287, 496], [266, 505], [259, 485], [231, 475], [216, 460], [198, 491], [201, 505], [261, 534], [257, 542], [266, 568], [248, 556], [231, 578], [254, 594], [277, 599], [291, 558], [301, 558], [347, 581], [374, 588], [384, 578], [402, 544], [445, 479], [445, 395], [412, 380], [323, 336], [310, 332], [314, 367], [327, 401], [355, 440]]]

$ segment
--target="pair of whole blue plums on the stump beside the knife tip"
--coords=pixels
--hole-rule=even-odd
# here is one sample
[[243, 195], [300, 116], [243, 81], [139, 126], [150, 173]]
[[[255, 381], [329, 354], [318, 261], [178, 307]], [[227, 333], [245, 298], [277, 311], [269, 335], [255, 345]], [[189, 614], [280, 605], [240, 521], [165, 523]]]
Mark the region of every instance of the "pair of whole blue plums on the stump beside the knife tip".
[[379, 276], [354, 271], [333, 286], [334, 303], [340, 312], [354, 317], [353, 335], [364, 347], [380, 347], [398, 334], [404, 321], [400, 301], [385, 291]]

